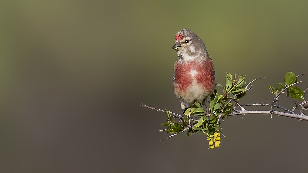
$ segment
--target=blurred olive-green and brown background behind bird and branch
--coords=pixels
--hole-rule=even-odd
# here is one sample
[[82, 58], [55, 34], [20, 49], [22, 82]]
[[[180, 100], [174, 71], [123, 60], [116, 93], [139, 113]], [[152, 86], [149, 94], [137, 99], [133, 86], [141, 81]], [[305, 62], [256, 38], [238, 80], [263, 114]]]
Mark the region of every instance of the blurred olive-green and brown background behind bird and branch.
[[266, 85], [307, 72], [308, 1], [0, 3], [0, 172], [307, 171], [307, 122], [233, 116], [206, 150], [203, 134], [160, 142], [165, 114], [139, 104], [180, 113], [171, 47], [184, 28], [205, 42], [217, 83], [266, 77], [241, 103], [271, 102]]

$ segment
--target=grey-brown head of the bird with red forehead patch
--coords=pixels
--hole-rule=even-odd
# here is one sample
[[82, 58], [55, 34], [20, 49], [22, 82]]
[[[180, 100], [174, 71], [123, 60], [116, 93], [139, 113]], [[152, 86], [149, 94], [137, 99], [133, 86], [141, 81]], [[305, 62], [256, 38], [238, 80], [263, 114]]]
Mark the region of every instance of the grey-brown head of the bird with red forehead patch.
[[193, 60], [201, 53], [208, 54], [203, 41], [192, 30], [180, 30], [174, 41], [172, 49], [176, 50], [179, 58], [183, 60]]

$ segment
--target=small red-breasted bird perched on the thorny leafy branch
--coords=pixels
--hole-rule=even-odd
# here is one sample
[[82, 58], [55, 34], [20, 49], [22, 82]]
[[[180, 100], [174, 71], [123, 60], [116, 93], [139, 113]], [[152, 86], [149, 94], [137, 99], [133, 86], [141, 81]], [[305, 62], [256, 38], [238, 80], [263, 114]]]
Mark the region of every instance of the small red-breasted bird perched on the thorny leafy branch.
[[172, 49], [179, 57], [174, 64], [173, 89], [184, 114], [196, 101], [205, 105], [215, 89], [215, 70], [203, 41], [189, 29], [176, 34]]

